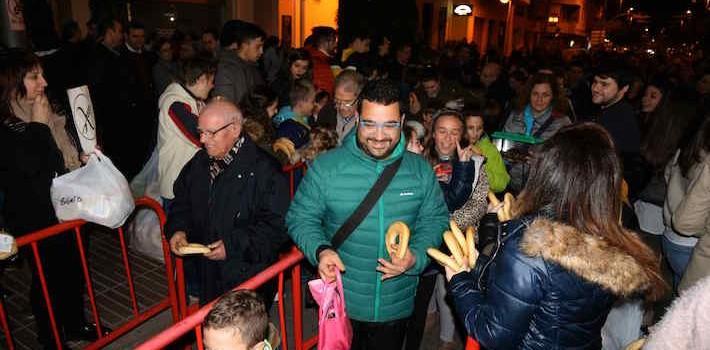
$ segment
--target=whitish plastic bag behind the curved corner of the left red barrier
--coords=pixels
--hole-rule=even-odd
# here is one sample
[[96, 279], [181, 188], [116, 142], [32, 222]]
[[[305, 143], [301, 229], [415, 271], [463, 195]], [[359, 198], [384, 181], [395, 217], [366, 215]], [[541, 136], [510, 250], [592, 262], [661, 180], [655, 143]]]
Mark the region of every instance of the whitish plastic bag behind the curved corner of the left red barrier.
[[[131, 191], [136, 197], [147, 196], [160, 202], [157, 150], [153, 151], [143, 170], [131, 181]], [[160, 221], [152, 209], [138, 209], [136, 215], [129, 221], [126, 233], [131, 249], [161, 262], [165, 260]]]

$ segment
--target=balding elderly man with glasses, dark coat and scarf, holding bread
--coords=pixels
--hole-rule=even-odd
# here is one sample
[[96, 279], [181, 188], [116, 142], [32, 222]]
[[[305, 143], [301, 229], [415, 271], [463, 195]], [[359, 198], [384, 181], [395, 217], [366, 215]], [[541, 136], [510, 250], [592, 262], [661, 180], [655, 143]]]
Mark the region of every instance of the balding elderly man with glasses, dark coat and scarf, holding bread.
[[[198, 259], [201, 304], [274, 263], [288, 241], [286, 177], [278, 161], [242, 132], [243, 122], [231, 102], [208, 104], [198, 119], [204, 148], [175, 181], [165, 232], [176, 255], [188, 243], [209, 248]], [[266, 284], [258, 291], [267, 305], [274, 290]]]

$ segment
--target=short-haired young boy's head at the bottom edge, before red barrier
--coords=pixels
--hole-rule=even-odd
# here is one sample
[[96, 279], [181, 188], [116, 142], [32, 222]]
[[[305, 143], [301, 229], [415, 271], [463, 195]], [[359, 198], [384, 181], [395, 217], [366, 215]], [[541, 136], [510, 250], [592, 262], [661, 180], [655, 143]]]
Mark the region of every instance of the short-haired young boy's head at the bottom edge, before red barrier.
[[[259, 295], [249, 290], [225, 294], [202, 322], [207, 350], [256, 350], [263, 347], [269, 320]], [[261, 345], [261, 347], [260, 347]]]

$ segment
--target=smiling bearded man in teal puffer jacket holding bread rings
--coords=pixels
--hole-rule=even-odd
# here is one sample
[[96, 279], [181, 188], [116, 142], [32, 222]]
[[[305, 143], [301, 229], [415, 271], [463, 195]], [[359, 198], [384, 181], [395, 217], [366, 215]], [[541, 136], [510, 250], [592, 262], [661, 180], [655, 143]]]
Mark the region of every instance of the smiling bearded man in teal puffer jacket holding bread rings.
[[[412, 314], [418, 276], [429, 263], [426, 249], [441, 244], [448, 211], [431, 166], [405, 150], [399, 91], [387, 81], [362, 93], [360, 119], [343, 146], [317, 158], [308, 170], [286, 217], [289, 234], [321, 278], [343, 271], [352, 349], [400, 349]], [[402, 164], [362, 223], [337, 249], [338, 228], [360, 204], [383, 169]], [[404, 221], [411, 230], [403, 259], [390, 257], [385, 233]]]

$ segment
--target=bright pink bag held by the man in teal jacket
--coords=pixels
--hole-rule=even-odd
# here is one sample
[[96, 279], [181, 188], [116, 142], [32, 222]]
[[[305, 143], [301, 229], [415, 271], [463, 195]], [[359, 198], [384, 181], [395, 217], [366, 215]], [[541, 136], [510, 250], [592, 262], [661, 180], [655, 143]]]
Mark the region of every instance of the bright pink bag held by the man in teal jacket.
[[[336, 269], [337, 271], [337, 269]], [[313, 299], [318, 303], [318, 350], [349, 350], [353, 329], [345, 311], [343, 280], [336, 272], [335, 282], [322, 279], [308, 282]]]

